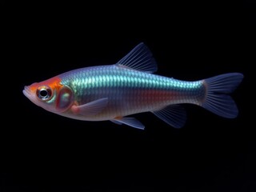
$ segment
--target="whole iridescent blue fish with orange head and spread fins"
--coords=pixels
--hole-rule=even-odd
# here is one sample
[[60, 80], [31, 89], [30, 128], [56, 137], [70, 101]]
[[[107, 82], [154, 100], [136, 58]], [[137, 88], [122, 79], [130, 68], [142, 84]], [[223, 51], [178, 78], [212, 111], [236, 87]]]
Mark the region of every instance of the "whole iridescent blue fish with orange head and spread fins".
[[151, 112], [174, 128], [186, 123], [183, 104], [201, 106], [223, 118], [236, 118], [230, 94], [243, 74], [228, 73], [196, 81], [153, 74], [158, 70], [150, 49], [135, 46], [114, 65], [70, 70], [22, 90], [35, 105], [82, 121], [111, 121], [138, 129], [145, 126], [132, 114]]

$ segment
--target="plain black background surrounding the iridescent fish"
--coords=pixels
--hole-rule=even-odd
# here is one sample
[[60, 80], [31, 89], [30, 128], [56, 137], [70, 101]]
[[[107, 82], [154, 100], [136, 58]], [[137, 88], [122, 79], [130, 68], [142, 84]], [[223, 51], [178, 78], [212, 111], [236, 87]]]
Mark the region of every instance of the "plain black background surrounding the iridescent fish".
[[[0, 191], [255, 191], [255, 2], [2, 2]], [[117, 62], [145, 42], [158, 72], [184, 80], [240, 72], [240, 114], [186, 105], [180, 130], [146, 130], [42, 110], [22, 89]]]

